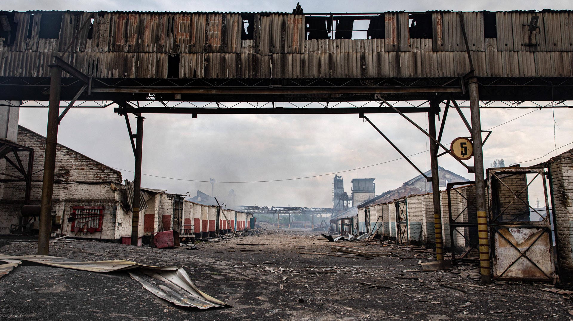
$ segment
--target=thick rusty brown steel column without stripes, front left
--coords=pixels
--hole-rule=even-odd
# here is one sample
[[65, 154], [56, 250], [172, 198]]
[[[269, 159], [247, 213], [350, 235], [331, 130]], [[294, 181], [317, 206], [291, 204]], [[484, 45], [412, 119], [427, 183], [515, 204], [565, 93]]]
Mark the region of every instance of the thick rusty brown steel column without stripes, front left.
[[40, 208], [40, 232], [38, 232], [39, 255], [48, 255], [50, 247], [50, 232], [52, 232], [52, 194], [54, 191], [54, 171], [56, 169], [58, 113], [60, 112], [61, 86], [62, 68], [57, 65], [50, 65], [50, 105], [48, 109], [48, 127], [46, 129], [44, 180], [42, 183], [42, 201]]

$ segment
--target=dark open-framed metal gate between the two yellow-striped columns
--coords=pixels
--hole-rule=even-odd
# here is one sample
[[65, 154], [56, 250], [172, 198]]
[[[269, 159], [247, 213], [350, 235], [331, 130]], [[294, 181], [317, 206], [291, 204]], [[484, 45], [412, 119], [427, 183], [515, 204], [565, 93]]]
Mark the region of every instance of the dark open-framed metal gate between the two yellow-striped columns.
[[[448, 191], [448, 215], [450, 217], [452, 263], [479, 262], [476, 187], [474, 185], [473, 187], [468, 187], [463, 190], [455, 188], [459, 185], [472, 184], [476, 184], [476, 182], [465, 181], [446, 184], [446, 191]], [[454, 199], [457, 197], [461, 198], [461, 204], [454, 202]]]

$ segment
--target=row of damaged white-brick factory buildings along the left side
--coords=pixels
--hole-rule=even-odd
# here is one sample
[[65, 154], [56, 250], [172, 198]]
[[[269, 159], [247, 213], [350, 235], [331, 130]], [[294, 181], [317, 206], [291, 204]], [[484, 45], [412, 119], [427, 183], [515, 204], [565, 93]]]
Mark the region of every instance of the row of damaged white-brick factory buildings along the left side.
[[[18, 125], [18, 107], [2, 106], [0, 113], [6, 121], [0, 138], [0, 235], [37, 236], [46, 138]], [[56, 164], [52, 235], [129, 244], [134, 183], [60, 144]], [[139, 245], [163, 231], [193, 239], [250, 227], [250, 213], [193, 203], [162, 189], [141, 188], [139, 197]]]

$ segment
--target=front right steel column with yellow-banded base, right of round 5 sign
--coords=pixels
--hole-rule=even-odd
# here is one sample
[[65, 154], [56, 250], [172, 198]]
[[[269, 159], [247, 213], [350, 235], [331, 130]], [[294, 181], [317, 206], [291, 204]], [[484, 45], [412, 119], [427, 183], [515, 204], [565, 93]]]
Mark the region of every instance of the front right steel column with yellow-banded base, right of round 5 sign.
[[488, 216], [486, 213], [484, 154], [481, 143], [480, 100], [477, 78], [469, 78], [469, 97], [472, 114], [473, 165], [476, 181], [477, 233], [480, 244], [481, 282], [491, 282], [489, 262]]

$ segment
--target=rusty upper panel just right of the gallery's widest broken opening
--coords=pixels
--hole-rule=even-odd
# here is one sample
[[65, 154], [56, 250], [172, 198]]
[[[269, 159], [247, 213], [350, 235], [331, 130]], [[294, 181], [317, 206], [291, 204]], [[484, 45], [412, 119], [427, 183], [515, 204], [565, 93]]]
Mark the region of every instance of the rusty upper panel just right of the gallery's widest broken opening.
[[410, 51], [408, 13], [386, 13], [384, 23], [384, 51]]

